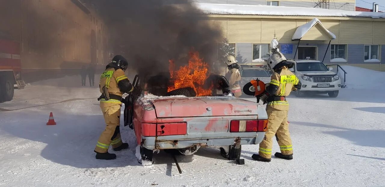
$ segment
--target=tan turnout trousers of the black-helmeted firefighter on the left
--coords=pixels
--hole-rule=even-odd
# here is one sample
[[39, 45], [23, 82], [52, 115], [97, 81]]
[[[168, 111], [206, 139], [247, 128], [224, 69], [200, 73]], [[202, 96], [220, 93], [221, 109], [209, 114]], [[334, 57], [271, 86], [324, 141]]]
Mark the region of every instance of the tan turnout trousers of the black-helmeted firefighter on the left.
[[[122, 138], [120, 134], [120, 115], [121, 115], [121, 104], [112, 104], [114, 101], [100, 101], [100, 109], [102, 109], [105, 129], [97, 141], [95, 152], [106, 153], [110, 145], [112, 148], [121, 146]], [[116, 103], [120, 102], [116, 100]]]

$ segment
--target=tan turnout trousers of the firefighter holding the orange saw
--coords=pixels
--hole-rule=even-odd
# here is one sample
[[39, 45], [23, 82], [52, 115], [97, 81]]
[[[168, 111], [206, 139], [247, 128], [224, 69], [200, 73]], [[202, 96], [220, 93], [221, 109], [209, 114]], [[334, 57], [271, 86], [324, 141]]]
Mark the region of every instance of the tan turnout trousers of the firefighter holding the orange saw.
[[264, 139], [259, 144], [259, 155], [266, 159], [271, 159], [271, 148], [273, 147], [273, 137], [275, 136], [280, 145], [281, 153], [284, 155], [293, 154], [293, 145], [289, 133], [287, 122], [288, 110], [278, 110], [271, 106], [266, 106], [268, 114], [268, 125]]

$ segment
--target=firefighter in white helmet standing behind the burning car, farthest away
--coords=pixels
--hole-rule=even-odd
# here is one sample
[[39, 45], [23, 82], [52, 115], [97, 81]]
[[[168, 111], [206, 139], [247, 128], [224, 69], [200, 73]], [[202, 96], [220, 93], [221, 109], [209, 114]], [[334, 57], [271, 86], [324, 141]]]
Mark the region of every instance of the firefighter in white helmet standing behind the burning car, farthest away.
[[241, 86], [238, 84], [238, 81], [241, 80], [241, 73], [238, 70], [239, 65], [232, 55], [227, 56], [226, 60], [229, 71], [226, 73], [225, 77], [229, 81], [231, 92], [233, 92], [235, 97], [239, 97], [242, 95]]

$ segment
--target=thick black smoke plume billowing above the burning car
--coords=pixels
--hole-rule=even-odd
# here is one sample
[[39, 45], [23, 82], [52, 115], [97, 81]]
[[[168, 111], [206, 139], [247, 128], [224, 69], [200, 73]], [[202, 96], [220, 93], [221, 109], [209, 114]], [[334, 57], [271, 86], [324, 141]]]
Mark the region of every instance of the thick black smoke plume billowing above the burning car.
[[187, 0], [95, 0], [104, 19], [109, 45], [139, 74], [168, 72], [188, 63], [194, 48], [210, 65], [217, 60], [219, 30], [208, 25], [207, 15]]

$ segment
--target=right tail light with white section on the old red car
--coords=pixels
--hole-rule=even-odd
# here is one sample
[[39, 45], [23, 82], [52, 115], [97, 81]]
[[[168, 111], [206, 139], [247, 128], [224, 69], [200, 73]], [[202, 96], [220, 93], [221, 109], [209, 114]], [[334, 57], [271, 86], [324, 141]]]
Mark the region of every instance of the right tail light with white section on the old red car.
[[231, 120], [230, 132], [266, 132], [267, 120]]

